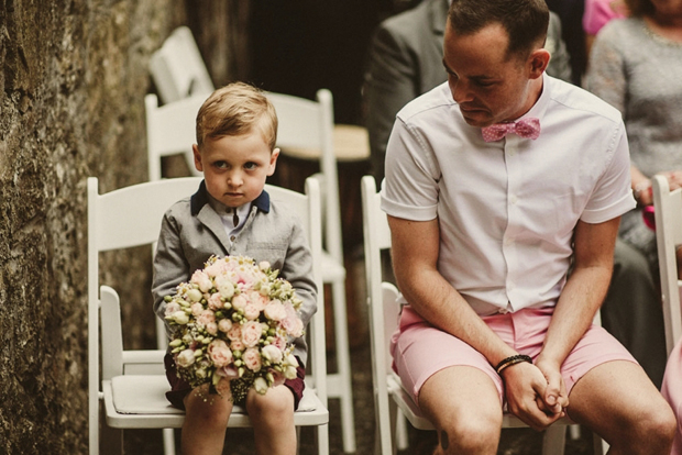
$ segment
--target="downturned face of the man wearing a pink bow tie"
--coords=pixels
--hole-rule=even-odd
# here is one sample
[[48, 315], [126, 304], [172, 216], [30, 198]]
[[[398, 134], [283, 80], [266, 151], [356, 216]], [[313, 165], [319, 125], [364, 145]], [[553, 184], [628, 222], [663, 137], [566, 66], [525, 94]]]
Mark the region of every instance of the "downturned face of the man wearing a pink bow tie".
[[496, 23], [470, 35], [458, 35], [448, 23], [443, 65], [452, 98], [472, 126], [516, 120], [537, 99], [531, 96], [530, 59], [508, 56], [508, 40]]

